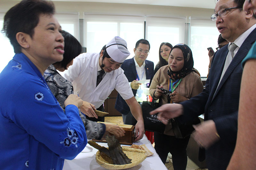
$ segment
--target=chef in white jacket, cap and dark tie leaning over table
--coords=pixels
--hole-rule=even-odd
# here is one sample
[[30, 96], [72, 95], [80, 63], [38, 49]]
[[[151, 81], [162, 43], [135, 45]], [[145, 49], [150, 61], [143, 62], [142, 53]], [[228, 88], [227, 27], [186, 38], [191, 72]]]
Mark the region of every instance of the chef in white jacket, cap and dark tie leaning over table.
[[[135, 99], [131, 86], [120, 68], [130, 55], [126, 41], [116, 36], [100, 53], [83, 53], [78, 55], [73, 65], [64, 71], [63, 77], [72, 82], [74, 93], [86, 101], [80, 107], [89, 120], [104, 122], [93, 110], [104, 111], [103, 103], [109, 94], [116, 89], [131, 109], [137, 120], [135, 125], [136, 140], [140, 140], [145, 132], [140, 104]], [[102, 77], [102, 80], [101, 80]]]

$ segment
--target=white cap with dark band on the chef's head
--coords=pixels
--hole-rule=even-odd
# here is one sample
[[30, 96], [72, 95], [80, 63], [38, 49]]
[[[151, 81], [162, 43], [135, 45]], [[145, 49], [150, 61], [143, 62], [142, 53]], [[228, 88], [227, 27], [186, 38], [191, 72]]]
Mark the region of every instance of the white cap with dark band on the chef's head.
[[[114, 45], [112, 45], [114, 44]], [[122, 44], [122, 45], [118, 45]], [[118, 63], [123, 63], [124, 60], [130, 55], [127, 49], [127, 44], [124, 39], [116, 36], [107, 45], [106, 50], [108, 55]]]

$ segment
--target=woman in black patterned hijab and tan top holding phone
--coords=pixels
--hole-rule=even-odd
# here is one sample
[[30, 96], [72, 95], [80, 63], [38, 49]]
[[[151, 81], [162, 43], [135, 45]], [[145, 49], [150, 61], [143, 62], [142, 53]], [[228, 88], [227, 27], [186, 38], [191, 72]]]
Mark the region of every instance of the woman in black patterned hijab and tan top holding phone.
[[[180, 103], [196, 96], [203, 91], [203, 84], [193, 65], [191, 49], [185, 44], [175, 45], [171, 50], [168, 65], [156, 72], [149, 94], [153, 96], [155, 93], [155, 99], [161, 97], [162, 104]], [[172, 93], [167, 96], [158, 88], [164, 88]], [[171, 123], [165, 126], [164, 134], [154, 132], [155, 149], [162, 162], [165, 163], [170, 152], [174, 170], [185, 170], [189, 137], [175, 138]]]

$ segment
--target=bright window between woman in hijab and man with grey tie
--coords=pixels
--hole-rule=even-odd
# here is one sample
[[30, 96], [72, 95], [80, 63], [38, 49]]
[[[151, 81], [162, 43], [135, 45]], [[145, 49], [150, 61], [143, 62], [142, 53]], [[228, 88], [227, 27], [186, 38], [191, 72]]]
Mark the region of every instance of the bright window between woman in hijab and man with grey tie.
[[206, 77], [208, 74], [210, 60], [207, 48], [212, 47], [216, 52], [219, 35], [215, 22], [208, 20], [191, 21], [190, 48], [193, 54], [194, 68], [199, 71], [201, 77]]

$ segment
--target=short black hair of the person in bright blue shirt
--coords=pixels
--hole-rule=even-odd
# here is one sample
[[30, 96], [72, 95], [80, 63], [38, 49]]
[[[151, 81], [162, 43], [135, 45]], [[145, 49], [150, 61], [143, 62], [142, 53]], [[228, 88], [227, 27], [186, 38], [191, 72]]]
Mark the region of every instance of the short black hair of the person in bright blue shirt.
[[53, 15], [55, 7], [52, 1], [46, 0], [22, 0], [13, 6], [4, 16], [2, 32], [9, 38], [14, 53], [21, 52], [21, 46], [16, 40], [19, 32], [27, 33], [33, 38], [34, 28], [39, 22], [41, 14]]

